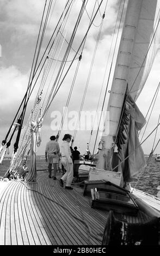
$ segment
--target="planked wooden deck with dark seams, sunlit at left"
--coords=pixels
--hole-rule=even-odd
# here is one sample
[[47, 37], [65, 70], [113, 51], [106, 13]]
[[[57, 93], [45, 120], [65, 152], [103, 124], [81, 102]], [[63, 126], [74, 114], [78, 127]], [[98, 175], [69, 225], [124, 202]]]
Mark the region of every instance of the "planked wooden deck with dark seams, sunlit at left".
[[[108, 212], [90, 205], [82, 187], [65, 190], [46, 172], [34, 184], [10, 181], [0, 194], [0, 245], [101, 245]], [[147, 221], [142, 212], [123, 217]]]

